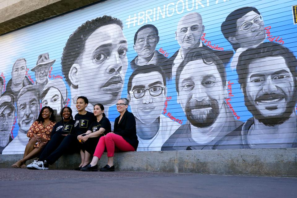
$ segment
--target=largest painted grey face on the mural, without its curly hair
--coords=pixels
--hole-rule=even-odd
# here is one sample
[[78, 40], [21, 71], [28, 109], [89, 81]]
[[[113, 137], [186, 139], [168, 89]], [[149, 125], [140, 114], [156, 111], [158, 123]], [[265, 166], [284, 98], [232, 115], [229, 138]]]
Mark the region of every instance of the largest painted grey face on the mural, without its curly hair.
[[90, 103], [115, 103], [124, 86], [126, 53], [127, 39], [120, 26], [105, 25], [93, 32], [85, 42], [78, 65], [71, 68], [70, 79], [78, 85], [80, 95], [88, 96]]

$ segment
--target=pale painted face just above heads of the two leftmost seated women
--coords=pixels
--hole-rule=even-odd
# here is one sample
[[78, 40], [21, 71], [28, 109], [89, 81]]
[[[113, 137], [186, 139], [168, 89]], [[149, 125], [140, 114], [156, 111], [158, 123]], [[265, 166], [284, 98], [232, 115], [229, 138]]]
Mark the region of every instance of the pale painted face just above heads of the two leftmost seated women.
[[42, 106], [50, 106], [56, 115], [60, 114], [63, 107], [62, 95], [57, 88], [51, 87], [42, 99]]

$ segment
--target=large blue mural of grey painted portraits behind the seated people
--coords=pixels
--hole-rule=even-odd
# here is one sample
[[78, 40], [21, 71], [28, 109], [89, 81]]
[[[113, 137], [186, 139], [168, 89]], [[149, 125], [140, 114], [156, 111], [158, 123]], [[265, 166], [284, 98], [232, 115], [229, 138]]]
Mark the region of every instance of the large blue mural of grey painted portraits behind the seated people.
[[131, 14], [101, 2], [0, 36], [11, 46], [0, 51], [0, 152], [23, 154], [42, 106], [74, 116], [79, 96], [90, 112], [104, 105], [112, 125], [127, 97], [137, 151], [296, 147], [292, 5], [195, 2], [129, 5]]

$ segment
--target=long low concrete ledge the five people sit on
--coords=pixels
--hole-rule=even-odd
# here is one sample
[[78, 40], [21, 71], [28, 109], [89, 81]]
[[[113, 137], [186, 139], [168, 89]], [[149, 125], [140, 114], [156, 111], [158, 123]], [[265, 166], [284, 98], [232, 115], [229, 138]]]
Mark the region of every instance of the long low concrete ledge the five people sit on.
[[[0, 168], [21, 158], [0, 155]], [[104, 153], [98, 166], [106, 162]], [[65, 155], [50, 168], [72, 169], [79, 163], [79, 154]], [[297, 149], [126, 152], [116, 153], [114, 164], [120, 171], [297, 177]]]

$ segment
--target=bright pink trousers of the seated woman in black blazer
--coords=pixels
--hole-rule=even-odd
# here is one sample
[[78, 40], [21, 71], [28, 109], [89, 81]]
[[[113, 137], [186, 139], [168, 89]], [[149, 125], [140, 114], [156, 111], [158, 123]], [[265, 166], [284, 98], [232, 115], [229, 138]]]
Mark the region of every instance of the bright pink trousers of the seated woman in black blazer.
[[106, 136], [102, 136], [96, 146], [94, 156], [101, 158], [104, 150], [107, 150], [107, 157], [113, 157], [114, 152], [118, 151], [135, 151], [134, 147], [131, 146], [122, 136], [114, 133], [108, 133]]

